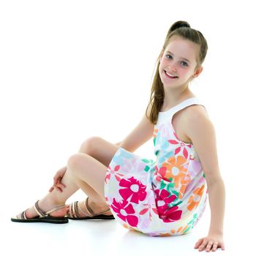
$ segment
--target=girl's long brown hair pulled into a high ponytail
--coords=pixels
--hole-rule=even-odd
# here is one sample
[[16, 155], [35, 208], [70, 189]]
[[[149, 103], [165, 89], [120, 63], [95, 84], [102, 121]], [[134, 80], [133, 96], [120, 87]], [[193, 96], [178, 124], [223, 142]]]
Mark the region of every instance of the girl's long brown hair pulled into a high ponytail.
[[157, 69], [155, 71], [154, 80], [151, 86], [150, 100], [146, 108], [146, 117], [148, 118], [148, 108], [150, 105], [152, 107], [148, 118], [152, 124], [157, 124], [158, 113], [162, 108], [162, 104], [165, 98], [164, 86], [159, 75], [159, 59], [162, 53], [165, 52], [165, 48], [169, 44], [170, 38], [174, 35], [178, 35], [184, 39], [189, 39], [190, 41], [200, 45], [200, 54], [197, 58], [197, 67], [200, 67], [200, 65], [203, 64], [208, 50], [208, 45], [206, 39], [203, 37], [203, 34], [198, 30], [191, 29], [187, 21], [178, 20], [176, 23], [173, 23], [173, 25], [170, 26], [170, 29], [168, 30], [165, 37], [165, 43], [162, 47], [161, 53], [157, 58]]

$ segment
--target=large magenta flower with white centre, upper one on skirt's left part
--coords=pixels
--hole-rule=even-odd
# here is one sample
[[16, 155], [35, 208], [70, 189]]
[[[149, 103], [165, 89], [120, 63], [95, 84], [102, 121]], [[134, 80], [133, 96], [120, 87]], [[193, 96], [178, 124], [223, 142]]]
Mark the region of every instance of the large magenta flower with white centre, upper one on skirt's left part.
[[125, 189], [119, 189], [119, 194], [124, 200], [131, 197], [129, 200], [130, 202], [139, 203], [139, 200], [143, 201], [146, 198], [146, 186], [134, 177], [128, 179], [122, 178], [119, 186], [125, 187]]

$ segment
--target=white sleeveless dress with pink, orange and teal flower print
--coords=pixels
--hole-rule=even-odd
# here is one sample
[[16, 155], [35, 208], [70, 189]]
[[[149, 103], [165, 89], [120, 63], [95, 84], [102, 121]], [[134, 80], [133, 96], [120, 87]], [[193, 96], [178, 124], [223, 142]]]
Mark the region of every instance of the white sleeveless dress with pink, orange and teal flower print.
[[119, 147], [105, 175], [105, 199], [115, 219], [129, 230], [149, 236], [189, 233], [206, 208], [208, 189], [192, 143], [179, 140], [172, 118], [190, 105], [189, 98], [159, 112], [154, 126], [156, 159]]

